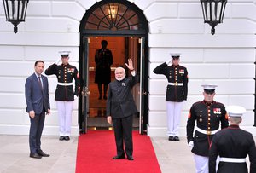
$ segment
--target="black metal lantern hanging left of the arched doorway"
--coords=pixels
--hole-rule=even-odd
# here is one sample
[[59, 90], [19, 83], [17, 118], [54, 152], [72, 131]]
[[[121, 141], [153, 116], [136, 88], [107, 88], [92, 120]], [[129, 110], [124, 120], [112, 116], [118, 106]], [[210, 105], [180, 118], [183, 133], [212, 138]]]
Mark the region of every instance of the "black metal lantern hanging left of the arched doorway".
[[6, 20], [11, 22], [14, 32], [18, 32], [18, 25], [21, 21], [25, 21], [26, 8], [29, 0], [3, 0], [3, 7]]

